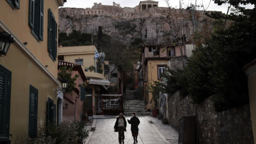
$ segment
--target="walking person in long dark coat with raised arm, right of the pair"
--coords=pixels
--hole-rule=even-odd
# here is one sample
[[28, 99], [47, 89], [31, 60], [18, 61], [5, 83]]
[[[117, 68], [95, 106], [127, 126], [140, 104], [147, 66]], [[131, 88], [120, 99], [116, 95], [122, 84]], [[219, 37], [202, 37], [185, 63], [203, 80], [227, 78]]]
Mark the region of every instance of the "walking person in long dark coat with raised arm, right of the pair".
[[137, 137], [138, 137], [138, 134], [139, 134], [139, 127], [138, 125], [140, 124], [140, 120], [139, 118], [136, 116], [136, 113], [135, 112], [132, 112], [132, 118], [129, 120], [127, 119], [127, 122], [129, 124], [131, 124], [131, 131], [132, 131], [132, 137], [133, 137], [133, 140], [135, 143], [138, 143], [138, 140], [137, 140]]

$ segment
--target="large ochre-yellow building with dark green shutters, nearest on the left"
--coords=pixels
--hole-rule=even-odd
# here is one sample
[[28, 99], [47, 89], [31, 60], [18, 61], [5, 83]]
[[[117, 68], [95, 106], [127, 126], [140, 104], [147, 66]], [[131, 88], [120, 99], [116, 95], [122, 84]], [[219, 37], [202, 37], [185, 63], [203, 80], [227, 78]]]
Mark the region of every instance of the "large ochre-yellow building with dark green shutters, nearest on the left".
[[0, 143], [37, 137], [39, 124], [57, 119], [58, 7], [65, 2], [0, 2], [0, 33], [15, 41], [0, 57]]

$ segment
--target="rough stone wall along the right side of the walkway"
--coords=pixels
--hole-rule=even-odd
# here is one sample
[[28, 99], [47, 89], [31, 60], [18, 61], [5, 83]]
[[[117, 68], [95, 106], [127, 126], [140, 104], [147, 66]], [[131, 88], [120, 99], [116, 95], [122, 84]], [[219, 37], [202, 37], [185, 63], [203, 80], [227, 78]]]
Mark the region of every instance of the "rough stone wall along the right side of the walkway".
[[[249, 104], [216, 113], [212, 97], [197, 104], [199, 143], [254, 143]], [[196, 115], [191, 98], [182, 99], [177, 92], [167, 99], [169, 124], [175, 129], [179, 129], [179, 118]]]

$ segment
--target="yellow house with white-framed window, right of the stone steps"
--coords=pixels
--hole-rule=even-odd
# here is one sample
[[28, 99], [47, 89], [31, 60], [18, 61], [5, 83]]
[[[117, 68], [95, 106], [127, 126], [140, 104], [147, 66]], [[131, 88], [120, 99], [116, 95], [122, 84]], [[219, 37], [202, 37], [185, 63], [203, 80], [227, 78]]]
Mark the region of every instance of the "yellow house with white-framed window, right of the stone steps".
[[[186, 45], [186, 55], [190, 56], [193, 50], [193, 45]], [[182, 46], [182, 55], [185, 55], [184, 47]], [[143, 99], [146, 101], [146, 108], [153, 109], [154, 102], [151, 102], [153, 97], [152, 93], [148, 92], [150, 85], [154, 81], [161, 80], [161, 74], [164, 73], [165, 68], [169, 67], [182, 67], [182, 63], [178, 60], [181, 58], [181, 51], [179, 45], [143, 45], [140, 54], [140, 61], [137, 63], [135, 71], [138, 73], [137, 82], [143, 85]], [[175, 59], [175, 62], [170, 62]]]

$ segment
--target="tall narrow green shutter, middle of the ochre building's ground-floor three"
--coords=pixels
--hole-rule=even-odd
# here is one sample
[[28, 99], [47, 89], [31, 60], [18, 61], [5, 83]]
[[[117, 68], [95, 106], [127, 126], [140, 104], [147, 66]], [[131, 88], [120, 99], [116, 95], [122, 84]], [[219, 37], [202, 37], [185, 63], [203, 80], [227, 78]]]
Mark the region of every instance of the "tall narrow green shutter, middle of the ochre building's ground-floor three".
[[29, 86], [29, 125], [28, 134], [32, 138], [37, 137], [37, 107], [38, 107], [38, 90]]

